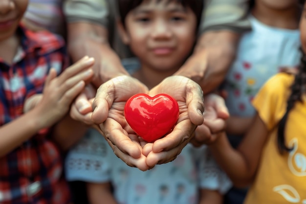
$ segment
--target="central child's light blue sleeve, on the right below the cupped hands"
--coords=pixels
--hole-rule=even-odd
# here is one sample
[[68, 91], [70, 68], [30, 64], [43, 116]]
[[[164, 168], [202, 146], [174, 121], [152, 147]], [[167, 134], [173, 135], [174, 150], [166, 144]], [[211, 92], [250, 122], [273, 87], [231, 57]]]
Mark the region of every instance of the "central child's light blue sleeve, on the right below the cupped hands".
[[232, 187], [232, 182], [219, 167], [209, 149], [206, 147], [204, 151], [203, 157], [199, 160], [200, 188], [218, 190], [224, 195]]

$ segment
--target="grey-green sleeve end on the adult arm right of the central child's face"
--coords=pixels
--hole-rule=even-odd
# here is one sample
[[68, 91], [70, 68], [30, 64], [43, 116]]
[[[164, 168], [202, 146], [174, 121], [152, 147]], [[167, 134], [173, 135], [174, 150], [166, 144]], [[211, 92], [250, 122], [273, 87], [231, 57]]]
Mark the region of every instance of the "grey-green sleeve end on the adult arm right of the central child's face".
[[226, 29], [240, 33], [251, 29], [248, 7], [249, 0], [206, 0], [200, 32]]

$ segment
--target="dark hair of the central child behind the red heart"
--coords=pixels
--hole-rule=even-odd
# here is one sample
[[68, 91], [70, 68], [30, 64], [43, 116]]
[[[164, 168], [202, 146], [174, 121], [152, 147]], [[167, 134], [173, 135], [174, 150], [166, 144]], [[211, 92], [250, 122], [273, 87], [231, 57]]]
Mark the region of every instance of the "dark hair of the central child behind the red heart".
[[[125, 19], [128, 13], [139, 6], [144, 0], [117, 0], [118, 8], [119, 8], [119, 15], [120, 21], [123, 25], [125, 25]], [[159, 2], [161, 0], [157, 0]], [[197, 27], [201, 21], [201, 15], [203, 10], [203, 1], [204, 0], [168, 0], [176, 1], [182, 4], [184, 7], [190, 7], [190, 9], [196, 14], [197, 17]]]

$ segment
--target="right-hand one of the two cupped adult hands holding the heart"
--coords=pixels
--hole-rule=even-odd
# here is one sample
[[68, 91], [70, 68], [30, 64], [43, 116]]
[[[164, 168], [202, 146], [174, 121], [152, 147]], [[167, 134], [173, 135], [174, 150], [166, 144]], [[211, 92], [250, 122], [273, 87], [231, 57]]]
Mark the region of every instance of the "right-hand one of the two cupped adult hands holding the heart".
[[175, 98], [179, 106], [179, 117], [174, 130], [154, 143], [144, 145], [143, 154], [147, 165], [167, 163], [176, 158], [192, 139], [197, 125], [203, 123], [203, 92], [193, 80], [183, 76], [170, 76], [154, 87], [149, 95], [166, 93]]

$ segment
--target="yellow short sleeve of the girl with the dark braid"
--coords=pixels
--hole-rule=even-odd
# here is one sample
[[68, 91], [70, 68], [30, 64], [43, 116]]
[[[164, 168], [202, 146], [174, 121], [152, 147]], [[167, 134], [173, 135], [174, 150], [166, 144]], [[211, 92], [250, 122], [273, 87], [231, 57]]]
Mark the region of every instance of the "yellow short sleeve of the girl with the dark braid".
[[279, 73], [271, 77], [253, 99], [252, 104], [268, 130], [282, 119], [286, 107], [289, 89], [294, 76]]

